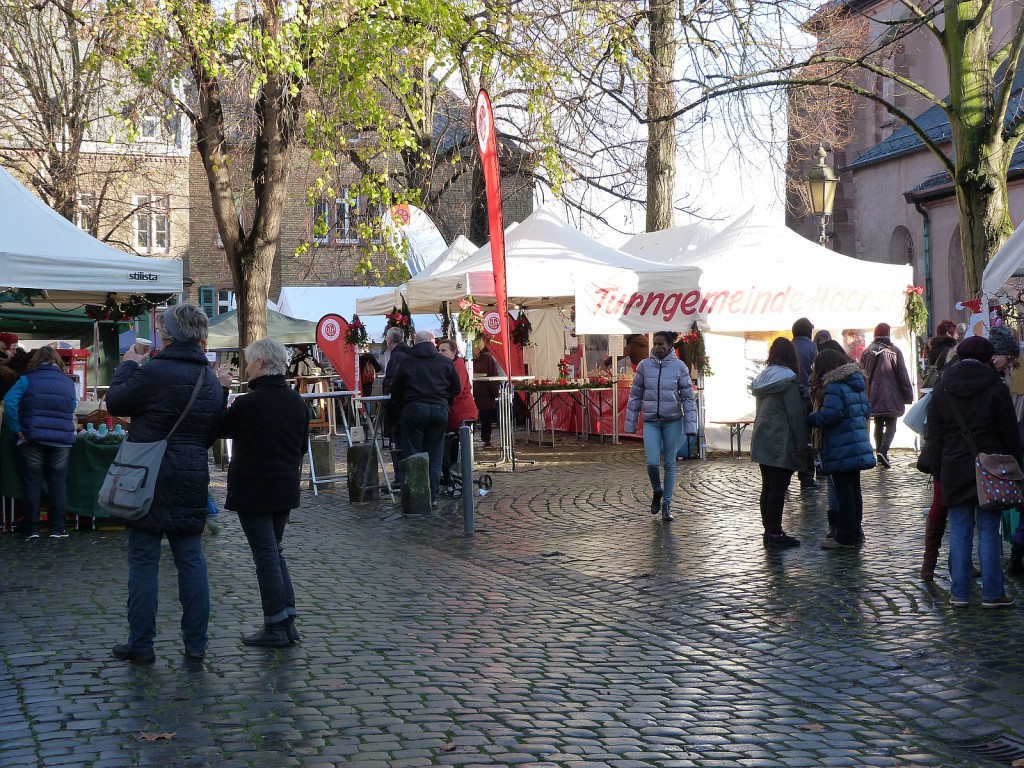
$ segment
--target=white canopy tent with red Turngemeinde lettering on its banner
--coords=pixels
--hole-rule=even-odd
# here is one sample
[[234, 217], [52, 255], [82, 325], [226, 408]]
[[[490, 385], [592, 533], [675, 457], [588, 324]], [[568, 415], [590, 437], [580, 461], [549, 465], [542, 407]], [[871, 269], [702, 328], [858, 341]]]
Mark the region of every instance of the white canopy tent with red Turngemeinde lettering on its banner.
[[[671, 241], [665, 247], [668, 257], [679, 256]], [[870, 342], [870, 331], [887, 323], [907, 366], [914, 365], [903, 322], [904, 292], [913, 280], [909, 265], [843, 256], [752, 212], [677, 264], [647, 272], [608, 270], [581, 283], [577, 330], [684, 332], [697, 322], [708, 332], [705, 343], [714, 371], [705, 380], [706, 436], [712, 447], [729, 444], [728, 428], [714, 422], [753, 418], [751, 381], [763, 367], [770, 339], [788, 334], [799, 317], [829, 330], [841, 343], [844, 330], [864, 334]], [[689, 269], [677, 271], [682, 266]], [[896, 444], [913, 444], [902, 424]]]

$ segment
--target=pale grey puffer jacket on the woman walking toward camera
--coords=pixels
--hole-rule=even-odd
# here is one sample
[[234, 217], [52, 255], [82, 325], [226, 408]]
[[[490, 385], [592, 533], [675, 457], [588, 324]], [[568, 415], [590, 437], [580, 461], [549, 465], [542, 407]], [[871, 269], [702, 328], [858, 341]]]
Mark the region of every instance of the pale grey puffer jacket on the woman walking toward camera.
[[626, 431], [636, 432], [643, 412], [645, 422], [679, 421], [683, 419], [685, 434], [697, 433], [697, 406], [693, 398], [693, 381], [686, 365], [675, 354], [664, 359], [652, 352], [640, 360], [633, 376], [633, 387], [626, 406]]

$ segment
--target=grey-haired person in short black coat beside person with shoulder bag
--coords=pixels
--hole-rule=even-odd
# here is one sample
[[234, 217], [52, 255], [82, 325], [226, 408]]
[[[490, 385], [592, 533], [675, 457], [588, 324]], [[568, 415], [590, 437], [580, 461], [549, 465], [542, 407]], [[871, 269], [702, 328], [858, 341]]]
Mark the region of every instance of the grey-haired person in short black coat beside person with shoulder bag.
[[249, 392], [227, 409], [221, 435], [233, 439], [227, 468], [226, 509], [239, 522], [256, 563], [263, 627], [246, 645], [280, 648], [299, 641], [295, 592], [282, 548], [285, 526], [299, 506], [302, 457], [309, 437], [305, 401], [288, 386], [288, 350], [272, 339], [246, 348]]

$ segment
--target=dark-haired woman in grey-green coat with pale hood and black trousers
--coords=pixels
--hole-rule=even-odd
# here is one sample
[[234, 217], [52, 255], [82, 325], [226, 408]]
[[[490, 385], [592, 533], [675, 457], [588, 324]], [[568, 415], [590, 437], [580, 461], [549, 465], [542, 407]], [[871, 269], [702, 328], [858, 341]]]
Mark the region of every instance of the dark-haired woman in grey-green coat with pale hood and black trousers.
[[768, 350], [768, 367], [754, 379], [758, 401], [751, 461], [761, 469], [761, 539], [768, 549], [800, 546], [782, 530], [782, 507], [793, 473], [807, 465], [807, 409], [797, 378], [797, 349], [779, 337]]

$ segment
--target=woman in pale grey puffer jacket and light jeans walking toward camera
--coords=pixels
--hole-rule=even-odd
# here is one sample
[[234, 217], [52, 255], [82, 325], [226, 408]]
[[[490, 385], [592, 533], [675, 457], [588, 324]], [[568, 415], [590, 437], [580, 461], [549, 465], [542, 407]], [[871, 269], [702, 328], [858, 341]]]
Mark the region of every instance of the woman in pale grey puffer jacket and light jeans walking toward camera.
[[[676, 334], [658, 331], [650, 356], [640, 360], [633, 376], [633, 387], [626, 406], [626, 432], [637, 431], [643, 412], [643, 449], [647, 475], [654, 490], [650, 513], [672, 519], [672, 492], [676, 484], [676, 449], [683, 432], [697, 433], [697, 407], [693, 381], [686, 365], [672, 351]], [[662, 482], [659, 464], [665, 464]]]

